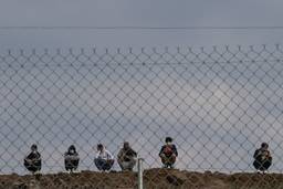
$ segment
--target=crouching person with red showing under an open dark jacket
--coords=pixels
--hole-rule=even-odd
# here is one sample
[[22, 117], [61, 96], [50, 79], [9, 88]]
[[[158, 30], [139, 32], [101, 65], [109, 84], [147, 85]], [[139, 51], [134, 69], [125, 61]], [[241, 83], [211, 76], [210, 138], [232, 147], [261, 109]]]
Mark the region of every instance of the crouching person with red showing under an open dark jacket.
[[160, 149], [159, 157], [165, 168], [174, 168], [174, 164], [178, 157], [177, 147], [172, 144], [171, 137], [166, 137], [165, 143]]

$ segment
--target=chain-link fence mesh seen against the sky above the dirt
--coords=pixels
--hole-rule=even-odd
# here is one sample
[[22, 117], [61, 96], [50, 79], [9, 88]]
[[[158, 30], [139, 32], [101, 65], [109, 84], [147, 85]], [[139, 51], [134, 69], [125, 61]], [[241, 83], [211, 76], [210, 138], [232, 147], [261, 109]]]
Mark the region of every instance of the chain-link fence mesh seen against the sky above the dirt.
[[70, 145], [97, 170], [96, 145], [116, 158], [125, 140], [160, 168], [170, 136], [178, 169], [253, 172], [266, 141], [282, 172], [282, 61], [280, 45], [2, 52], [0, 170], [27, 174], [32, 144], [43, 174], [64, 170]]

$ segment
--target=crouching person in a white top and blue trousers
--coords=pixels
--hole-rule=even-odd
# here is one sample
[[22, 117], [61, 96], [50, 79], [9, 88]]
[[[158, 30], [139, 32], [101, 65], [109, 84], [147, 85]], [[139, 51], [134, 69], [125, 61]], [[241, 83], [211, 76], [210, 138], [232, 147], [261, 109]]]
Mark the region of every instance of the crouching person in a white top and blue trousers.
[[94, 164], [98, 170], [106, 171], [111, 170], [112, 166], [114, 165], [114, 156], [105, 149], [102, 144], [97, 145], [97, 155], [94, 159]]

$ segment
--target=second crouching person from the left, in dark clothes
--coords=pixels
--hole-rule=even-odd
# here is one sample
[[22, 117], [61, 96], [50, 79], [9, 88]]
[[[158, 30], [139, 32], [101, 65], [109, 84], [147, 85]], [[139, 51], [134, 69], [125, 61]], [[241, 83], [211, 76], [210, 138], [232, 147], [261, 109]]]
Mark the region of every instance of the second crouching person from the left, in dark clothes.
[[67, 151], [64, 154], [64, 158], [66, 171], [73, 172], [77, 169], [80, 157], [74, 145], [69, 147]]

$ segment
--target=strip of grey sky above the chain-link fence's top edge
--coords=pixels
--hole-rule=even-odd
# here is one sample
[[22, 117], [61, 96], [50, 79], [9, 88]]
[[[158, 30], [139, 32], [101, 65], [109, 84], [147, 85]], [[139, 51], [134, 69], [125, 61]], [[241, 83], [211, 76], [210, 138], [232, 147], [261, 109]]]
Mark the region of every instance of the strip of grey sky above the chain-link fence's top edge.
[[[2, 0], [0, 27], [283, 25], [280, 0]], [[4, 30], [1, 48], [274, 44], [281, 30]]]

